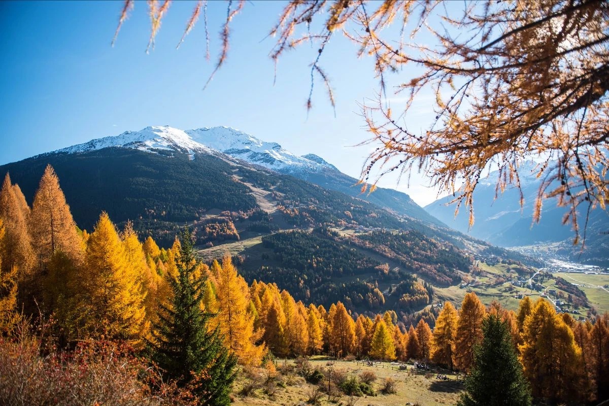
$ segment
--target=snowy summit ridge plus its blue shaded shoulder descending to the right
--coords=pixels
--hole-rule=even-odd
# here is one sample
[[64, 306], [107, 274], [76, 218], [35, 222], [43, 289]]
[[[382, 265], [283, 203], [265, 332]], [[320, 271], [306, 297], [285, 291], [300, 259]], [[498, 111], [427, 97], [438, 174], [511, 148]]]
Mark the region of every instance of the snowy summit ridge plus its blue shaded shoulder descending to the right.
[[146, 127], [140, 131], [125, 131], [121, 135], [93, 139], [49, 154], [86, 153], [108, 147], [130, 148], [150, 153], [161, 151], [188, 153], [190, 159], [197, 159], [198, 154], [214, 155], [233, 162], [236, 162], [235, 159], [241, 159], [250, 164], [315, 183], [326, 189], [370, 201], [401, 215], [442, 224], [418, 206], [407, 194], [384, 188], [376, 189], [373, 194], [362, 194], [361, 187], [355, 186], [356, 178], [340, 172], [320, 156], [314, 154], [298, 156], [276, 142], [262, 141], [230, 127], [203, 127], [195, 130], [180, 130], [168, 125]]

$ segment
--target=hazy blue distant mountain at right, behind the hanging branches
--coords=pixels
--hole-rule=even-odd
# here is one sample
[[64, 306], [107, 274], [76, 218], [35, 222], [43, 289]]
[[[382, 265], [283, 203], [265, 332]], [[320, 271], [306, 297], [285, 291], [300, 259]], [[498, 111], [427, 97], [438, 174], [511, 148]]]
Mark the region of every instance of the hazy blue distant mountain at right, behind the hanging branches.
[[[529, 163], [521, 170], [523, 208], [519, 205], [519, 192], [515, 188], [506, 190], [495, 200], [497, 172], [491, 172], [488, 178], [481, 181], [474, 192], [475, 222], [471, 229], [468, 229], [467, 209], [461, 208], [455, 217], [455, 206], [447, 205], [452, 200], [452, 196], [436, 200], [425, 206], [425, 209], [446, 225], [501, 247], [561, 242], [557, 251], [559, 254], [579, 261], [599, 264], [609, 262], [609, 239], [605, 234], [609, 231], [607, 211], [597, 209], [591, 212], [586, 233], [587, 247], [582, 256], [580, 256], [581, 247], [572, 247], [574, 233], [571, 226], [562, 224], [566, 209], [558, 207], [555, 200], [544, 201], [541, 220], [539, 223], [533, 223], [533, 205], [541, 183], [532, 174], [533, 167], [534, 164]], [[585, 219], [583, 214], [580, 219], [582, 222]]]

